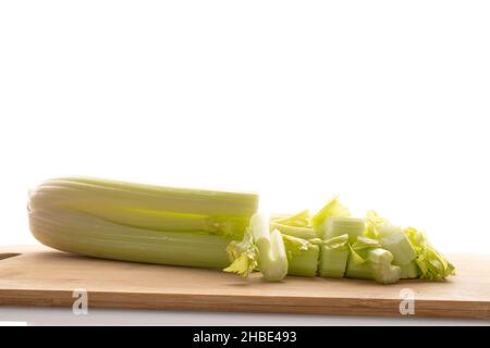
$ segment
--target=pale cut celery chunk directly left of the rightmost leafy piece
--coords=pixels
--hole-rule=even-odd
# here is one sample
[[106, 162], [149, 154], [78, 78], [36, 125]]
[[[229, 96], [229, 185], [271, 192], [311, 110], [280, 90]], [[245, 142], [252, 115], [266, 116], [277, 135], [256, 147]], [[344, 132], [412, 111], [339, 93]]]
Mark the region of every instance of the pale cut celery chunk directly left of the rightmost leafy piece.
[[405, 265], [416, 257], [414, 247], [400, 226], [382, 223], [376, 226], [381, 246], [393, 254], [393, 263]]

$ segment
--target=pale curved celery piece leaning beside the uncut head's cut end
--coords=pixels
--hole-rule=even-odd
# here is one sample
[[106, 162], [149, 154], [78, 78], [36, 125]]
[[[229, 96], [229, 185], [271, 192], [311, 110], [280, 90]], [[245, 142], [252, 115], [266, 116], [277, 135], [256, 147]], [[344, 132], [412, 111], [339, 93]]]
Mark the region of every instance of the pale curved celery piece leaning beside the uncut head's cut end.
[[280, 281], [287, 274], [287, 256], [281, 233], [269, 228], [268, 214], [257, 212], [252, 216], [250, 231], [258, 250], [260, 273], [268, 281]]

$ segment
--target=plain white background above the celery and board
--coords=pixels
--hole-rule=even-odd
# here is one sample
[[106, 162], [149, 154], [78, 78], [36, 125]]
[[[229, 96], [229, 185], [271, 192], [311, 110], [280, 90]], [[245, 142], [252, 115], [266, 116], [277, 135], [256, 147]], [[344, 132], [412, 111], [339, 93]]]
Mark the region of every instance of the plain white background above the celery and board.
[[340, 194], [490, 245], [488, 1], [0, 1], [0, 245], [27, 189], [91, 175]]

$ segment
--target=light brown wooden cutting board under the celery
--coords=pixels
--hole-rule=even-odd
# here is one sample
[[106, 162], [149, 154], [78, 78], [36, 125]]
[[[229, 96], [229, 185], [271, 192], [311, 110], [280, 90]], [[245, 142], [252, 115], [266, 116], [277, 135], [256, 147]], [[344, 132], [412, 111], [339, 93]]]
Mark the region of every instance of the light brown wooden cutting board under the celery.
[[[443, 283], [287, 277], [243, 279], [216, 270], [107, 261], [42, 246], [0, 248], [0, 304], [71, 307], [86, 289], [88, 308], [210, 310], [401, 316], [401, 291], [415, 315], [490, 319], [490, 256], [452, 254], [457, 275]], [[409, 309], [406, 299], [402, 307]], [[409, 314], [407, 315], [409, 316]]]

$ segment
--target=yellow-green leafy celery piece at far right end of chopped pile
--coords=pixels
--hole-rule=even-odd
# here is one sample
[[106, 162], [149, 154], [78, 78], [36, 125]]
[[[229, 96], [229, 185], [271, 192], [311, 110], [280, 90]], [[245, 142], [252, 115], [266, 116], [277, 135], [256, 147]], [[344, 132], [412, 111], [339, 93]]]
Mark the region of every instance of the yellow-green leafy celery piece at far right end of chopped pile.
[[407, 227], [403, 232], [414, 246], [420, 278], [441, 281], [455, 274], [454, 265], [430, 245], [422, 232], [414, 227]]

